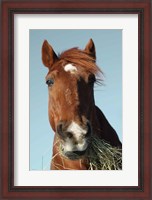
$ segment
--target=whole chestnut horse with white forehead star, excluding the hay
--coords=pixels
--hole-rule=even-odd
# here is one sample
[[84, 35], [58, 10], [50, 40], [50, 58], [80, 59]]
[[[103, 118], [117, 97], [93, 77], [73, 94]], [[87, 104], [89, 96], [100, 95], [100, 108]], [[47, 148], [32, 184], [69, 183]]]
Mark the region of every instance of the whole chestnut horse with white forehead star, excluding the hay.
[[55, 133], [50, 169], [88, 170], [85, 155], [92, 135], [122, 147], [116, 131], [95, 105], [94, 84], [102, 71], [96, 64], [94, 42], [90, 39], [83, 50], [74, 47], [57, 55], [44, 40], [42, 62], [48, 68], [48, 114]]

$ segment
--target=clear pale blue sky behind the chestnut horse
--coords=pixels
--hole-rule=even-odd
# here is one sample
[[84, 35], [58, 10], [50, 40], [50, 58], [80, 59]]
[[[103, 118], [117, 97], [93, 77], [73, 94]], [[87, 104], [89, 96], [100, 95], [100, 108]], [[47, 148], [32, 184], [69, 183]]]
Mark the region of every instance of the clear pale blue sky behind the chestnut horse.
[[122, 141], [122, 30], [30, 30], [30, 170], [49, 170], [54, 133], [48, 121], [48, 72], [41, 61], [46, 39], [60, 53], [83, 49], [92, 38], [104, 85], [95, 86], [96, 105]]

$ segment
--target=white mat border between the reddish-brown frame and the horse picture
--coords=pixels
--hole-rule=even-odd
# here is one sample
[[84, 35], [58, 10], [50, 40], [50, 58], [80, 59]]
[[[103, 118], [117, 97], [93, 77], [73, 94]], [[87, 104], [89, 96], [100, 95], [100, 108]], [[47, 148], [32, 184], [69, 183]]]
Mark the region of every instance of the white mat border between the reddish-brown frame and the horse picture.
[[[30, 29], [123, 30], [123, 170], [29, 171]], [[14, 30], [14, 185], [138, 186], [138, 15], [15, 14]]]

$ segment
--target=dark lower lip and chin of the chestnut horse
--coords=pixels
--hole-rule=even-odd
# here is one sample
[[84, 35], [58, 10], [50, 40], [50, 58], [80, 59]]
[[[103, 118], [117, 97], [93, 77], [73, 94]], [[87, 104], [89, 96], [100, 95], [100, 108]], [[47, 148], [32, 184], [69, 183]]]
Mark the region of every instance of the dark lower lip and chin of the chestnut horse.
[[83, 156], [85, 156], [87, 149], [85, 149], [84, 151], [67, 151], [64, 152], [64, 156], [70, 160], [78, 160], [80, 158], [82, 158]]

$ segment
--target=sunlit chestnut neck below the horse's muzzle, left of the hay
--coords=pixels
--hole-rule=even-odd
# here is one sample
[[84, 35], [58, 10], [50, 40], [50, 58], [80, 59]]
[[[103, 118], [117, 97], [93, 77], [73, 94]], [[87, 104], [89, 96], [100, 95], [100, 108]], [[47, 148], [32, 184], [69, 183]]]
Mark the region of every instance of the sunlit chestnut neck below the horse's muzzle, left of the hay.
[[86, 159], [69, 160], [61, 155], [60, 139], [55, 134], [53, 143], [53, 157], [51, 161], [51, 170], [87, 170]]

